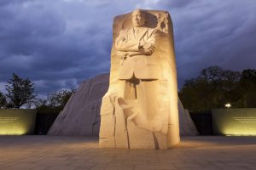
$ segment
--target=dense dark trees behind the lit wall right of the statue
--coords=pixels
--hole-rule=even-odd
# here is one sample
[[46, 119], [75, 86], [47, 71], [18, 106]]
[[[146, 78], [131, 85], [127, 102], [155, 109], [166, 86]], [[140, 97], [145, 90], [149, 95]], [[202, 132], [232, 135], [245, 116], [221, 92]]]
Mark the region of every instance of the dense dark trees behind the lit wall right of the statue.
[[186, 80], [178, 92], [189, 111], [210, 111], [224, 108], [256, 108], [256, 70], [224, 70], [211, 66], [198, 77]]

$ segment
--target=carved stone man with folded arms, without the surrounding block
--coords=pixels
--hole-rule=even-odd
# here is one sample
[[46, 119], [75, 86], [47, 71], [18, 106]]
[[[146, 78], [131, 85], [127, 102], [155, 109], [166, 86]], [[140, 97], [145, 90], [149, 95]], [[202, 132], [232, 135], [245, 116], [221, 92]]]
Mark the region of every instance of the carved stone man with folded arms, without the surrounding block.
[[[155, 112], [149, 114], [150, 111], [147, 111], [146, 107], [146, 100], [155, 99], [154, 94], [152, 95], [154, 91], [152, 87], [156, 87], [154, 81], [159, 79], [157, 63], [154, 58], [148, 56], [154, 53], [156, 37], [160, 32], [145, 27], [145, 22], [143, 10], [133, 11], [133, 27], [120, 31], [115, 41], [121, 57], [119, 79], [125, 81], [124, 96], [119, 100], [121, 100], [120, 105], [126, 110], [125, 115], [132, 112], [132, 115], [127, 117], [132, 117], [137, 127], [166, 133], [167, 119], [161, 120], [160, 115], [155, 115]], [[127, 107], [136, 111], [127, 111]], [[166, 126], [163, 122], [166, 122]]]

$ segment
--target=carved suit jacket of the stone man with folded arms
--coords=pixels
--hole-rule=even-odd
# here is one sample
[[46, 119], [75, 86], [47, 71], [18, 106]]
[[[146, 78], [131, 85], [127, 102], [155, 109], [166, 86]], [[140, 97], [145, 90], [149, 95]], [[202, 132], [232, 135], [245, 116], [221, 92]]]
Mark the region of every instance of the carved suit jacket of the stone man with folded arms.
[[134, 28], [119, 32], [119, 37], [115, 41], [115, 47], [122, 56], [119, 79], [129, 80], [133, 76], [144, 80], [159, 78], [160, 65], [157, 59], [154, 59], [156, 56], [145, 54], [139, 49], [143, 42], [150, 42], [156, 47], [155, 40], [158, 36], [158, 30], [148, 27], [139, 28], [139, 33], [136, 33]]

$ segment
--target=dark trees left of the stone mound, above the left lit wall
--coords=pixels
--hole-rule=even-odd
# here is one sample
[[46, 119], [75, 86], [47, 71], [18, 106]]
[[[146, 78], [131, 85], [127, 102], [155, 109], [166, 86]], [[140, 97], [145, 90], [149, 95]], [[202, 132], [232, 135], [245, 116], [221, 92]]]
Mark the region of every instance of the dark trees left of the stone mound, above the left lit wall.
[[29, 78], [22, 78], [13, 73], [13, 77], [5, 85], [6, 94], [0, 92], [1, 109], [38, 108], [61, 111], [75, 89], [58, 90], [47, 95], [46, 99], [38, 98], [35, 94], [34, 83]]

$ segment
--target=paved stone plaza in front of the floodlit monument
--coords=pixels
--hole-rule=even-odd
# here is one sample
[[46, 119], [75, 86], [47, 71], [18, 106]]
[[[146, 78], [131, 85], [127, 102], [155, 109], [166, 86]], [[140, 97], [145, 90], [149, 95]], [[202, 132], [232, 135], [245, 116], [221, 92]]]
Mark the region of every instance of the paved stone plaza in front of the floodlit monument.
[[0, 169], [256, 169], [256, 137], [185, 137], [170, 150], [99, 149], [91, 137], [0, 136]]

